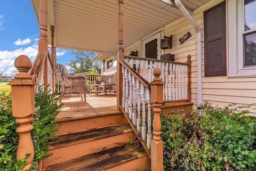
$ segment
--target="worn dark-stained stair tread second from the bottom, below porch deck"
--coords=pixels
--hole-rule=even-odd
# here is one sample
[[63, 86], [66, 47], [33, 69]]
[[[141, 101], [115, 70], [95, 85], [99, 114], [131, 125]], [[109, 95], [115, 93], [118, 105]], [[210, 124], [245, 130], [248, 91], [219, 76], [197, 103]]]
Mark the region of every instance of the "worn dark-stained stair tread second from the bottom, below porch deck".
[[49, 143], [49, 149], [51, 150], [71, 144], [104, 139], [106, 137], [130, 132], [132, 132], [132, 128], [130, 127], [129, 124], [118, 124], [102, 128], [89, 129], [81, 132], [63, 134], [58, 136], [55, 140]]

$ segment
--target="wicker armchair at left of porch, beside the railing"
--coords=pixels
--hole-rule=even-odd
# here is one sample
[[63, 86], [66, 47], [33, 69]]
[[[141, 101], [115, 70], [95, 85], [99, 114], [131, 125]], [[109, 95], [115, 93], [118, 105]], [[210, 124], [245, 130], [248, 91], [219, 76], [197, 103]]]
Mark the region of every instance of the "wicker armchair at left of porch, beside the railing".
[[86, 102], [86, 77], [69, 75], [68, 70], [62, 64], [55, 64], [56, 77], [60, 81], [60, 102], [63, 95], [70, 93], [81, 94], [81, 99], [83, 100], [82, 94], [84, 94], [84, 101]]

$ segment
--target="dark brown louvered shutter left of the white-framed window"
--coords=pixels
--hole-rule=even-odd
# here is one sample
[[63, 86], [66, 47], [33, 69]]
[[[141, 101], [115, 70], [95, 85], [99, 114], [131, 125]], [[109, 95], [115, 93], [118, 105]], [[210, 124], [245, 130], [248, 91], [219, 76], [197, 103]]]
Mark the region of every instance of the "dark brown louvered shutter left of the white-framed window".
[[204, 11], [204, 73], [226, 76], [226, 1]]

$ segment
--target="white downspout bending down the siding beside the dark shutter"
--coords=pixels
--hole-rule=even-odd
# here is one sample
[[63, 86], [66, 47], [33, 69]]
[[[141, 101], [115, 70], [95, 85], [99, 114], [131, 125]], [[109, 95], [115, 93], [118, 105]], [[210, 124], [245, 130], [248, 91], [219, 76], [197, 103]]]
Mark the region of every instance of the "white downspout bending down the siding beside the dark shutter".
[[202, 104], [202, 30], [196, 21], [187, 11], [186, 7], [180, 2], [175, 0], [175, 4], [178, 6], [184, 17], [188, 19], [191, 25], [197, 31], [197, 107]]

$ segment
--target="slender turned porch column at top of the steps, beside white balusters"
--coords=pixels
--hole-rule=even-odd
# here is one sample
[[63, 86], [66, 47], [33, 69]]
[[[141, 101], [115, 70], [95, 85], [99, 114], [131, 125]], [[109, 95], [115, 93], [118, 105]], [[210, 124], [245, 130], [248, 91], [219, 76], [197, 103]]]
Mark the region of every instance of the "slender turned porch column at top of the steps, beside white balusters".
[[119, 105], [122, 104], [122, 89], [123, 89], [123, 75], [122, 75], [122, 67], [119, 61], [124, 60], [124, 52], [123, 52], [123, 0], [118, 0], [119, 5], [119, 13], [118, 13], [118, 51], [117, 51], [117, 110], [120, 110]]

